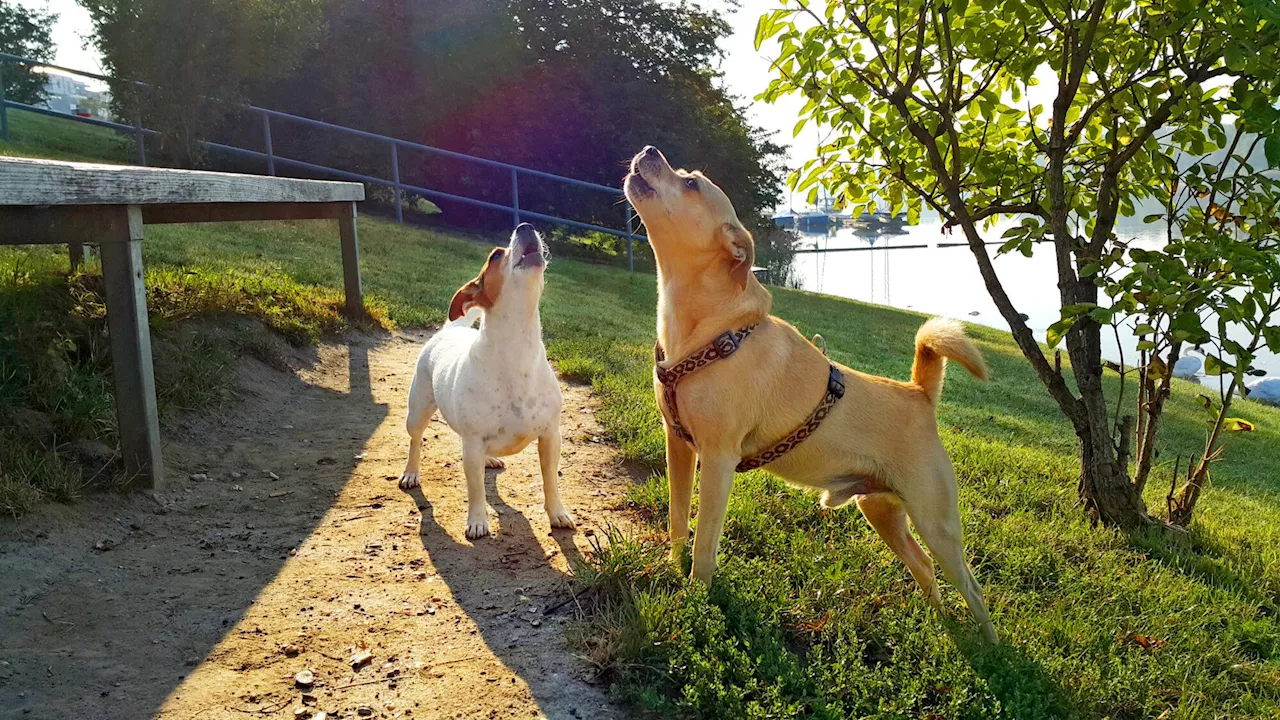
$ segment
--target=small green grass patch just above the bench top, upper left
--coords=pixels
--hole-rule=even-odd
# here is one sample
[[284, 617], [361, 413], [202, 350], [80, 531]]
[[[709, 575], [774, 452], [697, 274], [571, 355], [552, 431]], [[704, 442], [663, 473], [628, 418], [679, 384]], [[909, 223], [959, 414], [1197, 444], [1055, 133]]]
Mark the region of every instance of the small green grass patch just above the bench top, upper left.
[[129, 163], [133, 140], [102, 127], [9, 109], [9, 141], [0, 155], [86, 163]]

